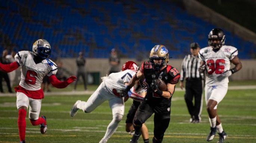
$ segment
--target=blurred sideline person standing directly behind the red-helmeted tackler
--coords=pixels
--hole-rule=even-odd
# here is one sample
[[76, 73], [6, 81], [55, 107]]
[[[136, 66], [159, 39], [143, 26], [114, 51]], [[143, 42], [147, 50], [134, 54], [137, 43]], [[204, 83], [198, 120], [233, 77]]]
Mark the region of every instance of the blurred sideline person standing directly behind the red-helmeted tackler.
[[109, 58], [109, 74], [113, 73], [113, 72], [119, 72], [119, 64], [120, 64], [120, 57], [117, 55], [117, 51], [116, 49], [111, 49], [111, 54], [110, 54], [110, 58]]

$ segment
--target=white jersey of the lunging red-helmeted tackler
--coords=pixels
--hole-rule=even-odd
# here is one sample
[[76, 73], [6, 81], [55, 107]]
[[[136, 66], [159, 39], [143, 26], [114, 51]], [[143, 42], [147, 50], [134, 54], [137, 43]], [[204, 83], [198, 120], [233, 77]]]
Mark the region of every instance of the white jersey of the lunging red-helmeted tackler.
[[115, 95], [115, 93], [119, 93], [125, 89], [124, 83], [128, 83], [135, 74], [135, 71], [127, 69], [125, 71], [111, 73], [104, 81], [108, 90]]

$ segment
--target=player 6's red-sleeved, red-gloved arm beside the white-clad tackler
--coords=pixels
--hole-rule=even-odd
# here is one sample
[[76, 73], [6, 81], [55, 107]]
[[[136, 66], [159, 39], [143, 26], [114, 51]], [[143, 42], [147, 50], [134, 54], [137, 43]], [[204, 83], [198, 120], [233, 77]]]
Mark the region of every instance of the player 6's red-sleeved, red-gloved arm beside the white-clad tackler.
[[65, 88], [77, 79], [77, 77], [71, 76], [71, 77], [67, 78], [67, 80], [65, 80], [65, 81], [59, 81], [59, 79], [55, 75], [51, 75], [48, 78], [49, 78], [51, 84], [53, 85], [53, 87], [56, 87], [56, 88]]

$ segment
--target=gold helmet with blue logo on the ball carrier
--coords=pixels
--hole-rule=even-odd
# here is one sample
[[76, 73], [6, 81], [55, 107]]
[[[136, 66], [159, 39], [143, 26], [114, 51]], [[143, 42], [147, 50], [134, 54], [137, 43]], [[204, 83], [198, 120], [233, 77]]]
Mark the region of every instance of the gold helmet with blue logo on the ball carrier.
[[[161, 59], [161, 64], [155, 64], [154, 59]], [[149, 54], [149, 61], [154, 69], [160, 69], [169, 61], [169, 51], [164, 45], [155, 45]]]

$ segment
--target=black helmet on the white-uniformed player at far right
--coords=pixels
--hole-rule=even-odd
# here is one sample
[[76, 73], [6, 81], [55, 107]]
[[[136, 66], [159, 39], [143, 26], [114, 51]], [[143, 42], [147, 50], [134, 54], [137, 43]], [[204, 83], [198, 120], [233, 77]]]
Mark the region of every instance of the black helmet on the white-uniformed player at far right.
[[[213, 43], [213, 40], [216, 39], [219, 40], [219, 43]], [[225, 39], [223, 30], [219, 28], [212, 29], [208, 35], [208, 43], [214, 50], [221, 48], [225, 43]]]

